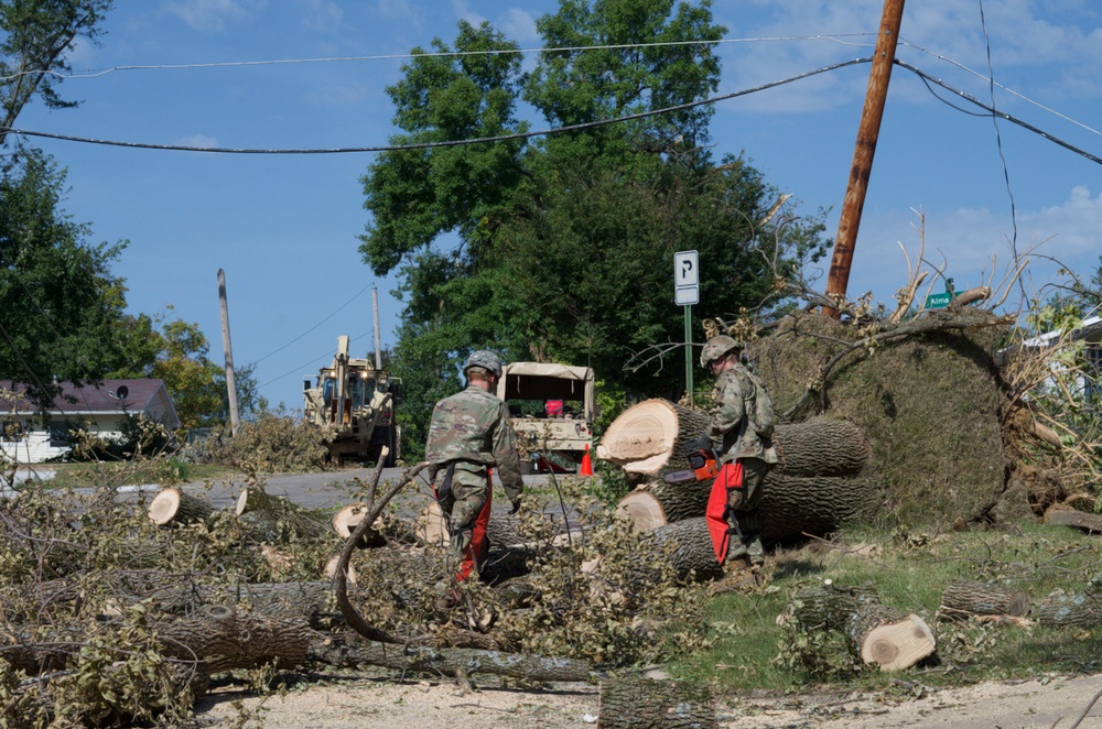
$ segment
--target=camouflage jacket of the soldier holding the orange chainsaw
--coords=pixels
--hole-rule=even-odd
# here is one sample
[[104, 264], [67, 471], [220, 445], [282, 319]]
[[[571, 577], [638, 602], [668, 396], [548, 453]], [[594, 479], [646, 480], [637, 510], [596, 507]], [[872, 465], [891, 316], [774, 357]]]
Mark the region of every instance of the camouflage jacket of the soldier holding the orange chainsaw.
[[[765, 394], [760, 380], [742, 364], [735, 364], [716, 379], [715, 389], [712, 391], [710, 411], [712, 422], [707, 428], [707, 437], [712, 440], [712, 447], [720, 454], [720, 463], [728, 463], [736, 457], [760, 458], [767, 464], [776, 464], [779, 460], [773, 440], [763, 438], [754, 425], [759, 390], [763, 396], [769, 396]], [[744, 416], [748, 417], [749, 422], [746, 424], [738, 453], [733, 454], [731, 449], [738, 438]]]

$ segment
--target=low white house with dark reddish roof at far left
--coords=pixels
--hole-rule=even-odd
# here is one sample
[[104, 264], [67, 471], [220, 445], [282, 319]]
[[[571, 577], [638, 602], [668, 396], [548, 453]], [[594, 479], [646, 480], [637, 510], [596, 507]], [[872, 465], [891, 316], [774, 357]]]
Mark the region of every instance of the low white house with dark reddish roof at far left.
[[[23, 396], [25, 387], [0, 380], [0, 450], [8, 458], [39, 464], [64, 455], [72, 447], [71, 426], [82, 426], [104, 437], [119, 434], [128, 415], [144, 414], [169, 428], [180, 417], [163, 380], [104, 380], [75, 387], [60, 382], [58, 395], [43, 418], [42, 411]], [[4, 396], [4, 394], [8, 396]]]

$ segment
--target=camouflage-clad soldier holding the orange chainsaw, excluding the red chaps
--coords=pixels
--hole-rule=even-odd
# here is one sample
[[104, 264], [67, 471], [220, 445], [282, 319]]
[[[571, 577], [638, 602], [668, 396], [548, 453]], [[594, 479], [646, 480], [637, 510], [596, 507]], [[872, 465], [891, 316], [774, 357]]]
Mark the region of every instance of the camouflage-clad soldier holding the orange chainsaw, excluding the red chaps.
[[761, 380], [742, 366], [741, 356], [738, 342], [719, 335], [704, 345], [700, 364], [717, 376], [707, 431], [711, 447], [720, 466], [733, 460], [743, 465], [743, 489], [728, 491], [727, 499], [727, 522], [737, 522], [742, 538], [733, 535], [727, 559], [745, 559], [756, 579], [765, 562], [757, 515], [761, 481], [778, 458], [771, 439], [773, 403]]

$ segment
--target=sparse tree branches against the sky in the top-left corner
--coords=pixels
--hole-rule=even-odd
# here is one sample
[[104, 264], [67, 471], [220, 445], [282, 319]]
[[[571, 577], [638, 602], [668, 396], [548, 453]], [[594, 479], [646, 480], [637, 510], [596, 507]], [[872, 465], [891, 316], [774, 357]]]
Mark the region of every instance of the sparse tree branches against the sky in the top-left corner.
[[96, 42], [114, 0], [6, 0], [0, 2], [0, 107], [8, 129], [35, 96], [48, 109], [75, 107], [57, 94], [61, 75], [72, 70], [65, 52], [84, 37]]

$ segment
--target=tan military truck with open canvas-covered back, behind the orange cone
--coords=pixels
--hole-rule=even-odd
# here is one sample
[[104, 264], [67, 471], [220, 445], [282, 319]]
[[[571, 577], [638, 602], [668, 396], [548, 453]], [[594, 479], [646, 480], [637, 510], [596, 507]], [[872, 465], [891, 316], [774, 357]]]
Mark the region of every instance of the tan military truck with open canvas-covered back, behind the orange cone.
[[576, 470], [599, 416], [592, 368], [511, 362], [498, 380], [497, 396], [509, 405], [521, 449], [529, 454], [525, 470]]

